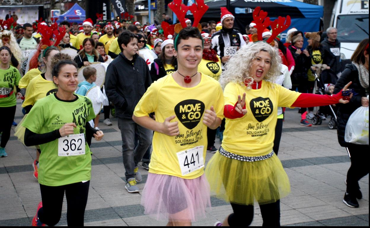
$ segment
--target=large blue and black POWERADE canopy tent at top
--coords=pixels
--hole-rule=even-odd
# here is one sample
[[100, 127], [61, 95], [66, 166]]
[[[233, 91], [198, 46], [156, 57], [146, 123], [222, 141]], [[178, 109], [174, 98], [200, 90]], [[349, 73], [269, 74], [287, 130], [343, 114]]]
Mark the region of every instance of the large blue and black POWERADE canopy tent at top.
[[[194, 0], [193, 0], [194, 1]], [[196, 1], [196, 0], [195, 0]], [[285, 1], [259, 1], [259, 0], [205, 0], [209, 6], [201, 21], [220, 20], [220, 7], [229, 6], [229, 11], [235, 16], [235, 26], [245, 33], [245, 26], [253, 20], [252, 12], [259, 6], [268, 12], [268, 17], [275, 20], [278, 16], [292, 18], [290, 28], [296, 28], [303, 32], [319, 31], [323, 17], [323, 6], [303, 3], [295, 0]], [[286, 30], [287, 31], [287, 30]], [[282, 41], [285, 42], [286, 31], [282, 33]]]

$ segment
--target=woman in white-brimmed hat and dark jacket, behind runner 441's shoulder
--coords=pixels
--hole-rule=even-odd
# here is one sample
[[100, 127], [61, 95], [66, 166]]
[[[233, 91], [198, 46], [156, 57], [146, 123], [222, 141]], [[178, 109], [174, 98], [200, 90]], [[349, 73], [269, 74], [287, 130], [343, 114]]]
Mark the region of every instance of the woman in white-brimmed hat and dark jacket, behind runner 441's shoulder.
[[177, 71], [177, 59], [174, 56], [174, 40], [164, 40], [161, 44], [161, 49], [162, 53], [158, 55], [158, 58], [154, 59], [150, 68], [152, 82]]

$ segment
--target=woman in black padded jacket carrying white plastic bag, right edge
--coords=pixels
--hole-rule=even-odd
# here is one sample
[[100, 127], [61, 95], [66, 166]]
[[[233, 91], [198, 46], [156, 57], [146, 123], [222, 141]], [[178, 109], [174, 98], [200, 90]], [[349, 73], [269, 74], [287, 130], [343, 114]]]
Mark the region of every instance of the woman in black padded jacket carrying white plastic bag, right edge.
[[359, 187], [359, 180], [369, 173], [369, 145], [347, 143], [344, 140], [344, 132], [351, 114], [360, 106], [369, 106], [369, 39], [360, 42], [356, 51], [351, 57], [352, 64], [347, 64], [342, 75], [335, 84], [334, 93], [338, 93], [343, 85], [352, 82], [349, 86], [354, 89], [357, 95], [353, 95], [351, 102], [346, 106], [338, 104], [337, 112], [337, 133], [338, 142], [341, 146], [347, 147], [351, 157], [351, 167], [347, 173], [347, 190], [343, 203], [349, 207], [359, 207], [357, 199], [362, 198]]

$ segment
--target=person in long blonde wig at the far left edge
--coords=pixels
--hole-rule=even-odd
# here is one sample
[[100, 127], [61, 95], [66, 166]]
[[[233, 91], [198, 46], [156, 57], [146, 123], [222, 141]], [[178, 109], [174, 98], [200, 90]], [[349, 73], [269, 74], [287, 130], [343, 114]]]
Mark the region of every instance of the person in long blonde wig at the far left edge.
[[16, 37], [9, 30], [3, 30], [0, 33], [0, 47], [8, 47], [12, 53], [10, 64], [15, 68], [20, 68], [20, 61], [22, 58], [21, 48], [19, 47]]

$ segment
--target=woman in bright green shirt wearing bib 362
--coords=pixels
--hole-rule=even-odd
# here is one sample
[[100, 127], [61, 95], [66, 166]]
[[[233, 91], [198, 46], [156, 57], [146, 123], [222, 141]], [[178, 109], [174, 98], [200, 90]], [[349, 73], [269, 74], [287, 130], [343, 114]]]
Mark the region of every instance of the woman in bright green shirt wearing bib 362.
[[54, 65], [53, 82], [58, 91], [39, 99], [22, 126], [24, 144], [40, 145], [38, 182], [42, 201], [32, 220], [33, 226], [59, 222], [64, 191], [68, 225], [82, 226], [91, 178], [91, 152], [86, 132], [96, 140], [103, 137], [88, 123], [95, 118], [90, 99], [74, 93], [78, 85], [77, 65], [61, 60]]

